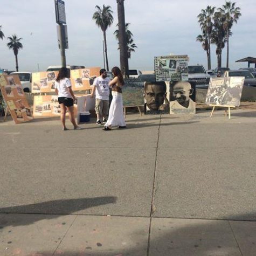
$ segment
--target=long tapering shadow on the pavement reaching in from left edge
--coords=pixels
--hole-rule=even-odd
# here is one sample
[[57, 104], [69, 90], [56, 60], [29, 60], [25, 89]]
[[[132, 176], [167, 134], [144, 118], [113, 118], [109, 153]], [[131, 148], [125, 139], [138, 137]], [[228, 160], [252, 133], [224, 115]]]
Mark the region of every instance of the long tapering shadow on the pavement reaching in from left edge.
[[24, 218], [22, 222], [8, 223], [0, 219], [0, 230], [5, 226], [24, 226], [30, 225], [42, 219], [57, 218], [58, 215], [70, 215], [74, 212], [85, 210], [89, 207], [95, 207], [105, 204], [116, 203], [116, 197], [93, 197], [93, 198], [78, 198], [78, 199], [61, 199], [52, 200], [37, 204], [27, 204], [13, 207], [4, 207], [0, 209], [0, 213], [19, 213], [19, 214], [38, 214], [36, 217]]

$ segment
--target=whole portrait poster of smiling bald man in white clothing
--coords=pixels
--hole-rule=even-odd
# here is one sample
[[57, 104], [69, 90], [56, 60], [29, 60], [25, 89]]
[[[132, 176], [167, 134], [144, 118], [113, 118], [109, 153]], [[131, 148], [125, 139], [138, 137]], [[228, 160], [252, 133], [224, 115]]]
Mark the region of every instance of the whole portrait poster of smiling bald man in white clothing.
[[188, 81], [171, 81], [170, 114], [196, 113], [196, 84]]

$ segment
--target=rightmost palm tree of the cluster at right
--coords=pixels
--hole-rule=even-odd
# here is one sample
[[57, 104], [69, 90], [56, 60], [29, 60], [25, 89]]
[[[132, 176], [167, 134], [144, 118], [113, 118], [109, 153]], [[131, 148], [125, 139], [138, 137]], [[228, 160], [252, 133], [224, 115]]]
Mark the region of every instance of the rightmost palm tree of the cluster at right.
[[236, 7], [236, 3], [232, 3], [231, 1], [222, 5], [222, 8], [218, 8], [218, 11], [225, 15], [225, 22], [223, 23], [224, 31], [226, 34], [227, 41], [227, 64], [226, 67], [229, 67], [229, 37], [231, 32], [231, 27], [233, 23], [237, 23], [237, 20], [241, 16], [240, 8]]

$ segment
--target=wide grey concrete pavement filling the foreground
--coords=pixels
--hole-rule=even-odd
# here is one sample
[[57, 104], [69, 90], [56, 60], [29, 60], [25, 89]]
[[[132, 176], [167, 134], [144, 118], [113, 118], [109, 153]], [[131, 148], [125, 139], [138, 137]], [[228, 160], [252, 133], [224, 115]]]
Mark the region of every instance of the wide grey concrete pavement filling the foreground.
[[256, 111], [209, 115], [0, 123], [0, 255], [256, 255]]

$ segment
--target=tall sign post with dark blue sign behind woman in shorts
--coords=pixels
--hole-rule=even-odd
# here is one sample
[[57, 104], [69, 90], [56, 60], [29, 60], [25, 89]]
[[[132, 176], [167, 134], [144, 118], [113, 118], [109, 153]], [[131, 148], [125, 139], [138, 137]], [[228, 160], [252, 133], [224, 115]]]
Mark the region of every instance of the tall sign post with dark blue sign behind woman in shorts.
[[65, 2], [62, 0], [54, 0], [58, 45], [60, 49], [61, 67], [66, 67], [66, 54], [65, 49], [68, 49], [68, 38], [67, 38], [67, 25], [66, 25], [66, 12]]

